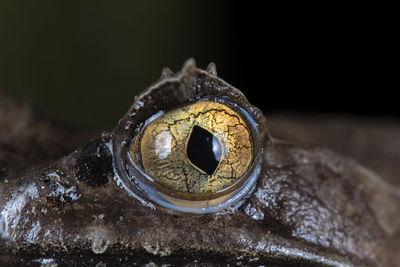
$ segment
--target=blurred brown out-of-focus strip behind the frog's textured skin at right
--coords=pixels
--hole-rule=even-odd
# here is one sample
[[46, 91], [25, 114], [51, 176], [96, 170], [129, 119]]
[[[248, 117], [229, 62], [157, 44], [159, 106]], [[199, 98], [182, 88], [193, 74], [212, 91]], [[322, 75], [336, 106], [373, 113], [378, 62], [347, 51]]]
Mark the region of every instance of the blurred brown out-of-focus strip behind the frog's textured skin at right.
[[272, 136], [329, 147], [400, 185], [400, 121], [338, 115], [267, 115]]

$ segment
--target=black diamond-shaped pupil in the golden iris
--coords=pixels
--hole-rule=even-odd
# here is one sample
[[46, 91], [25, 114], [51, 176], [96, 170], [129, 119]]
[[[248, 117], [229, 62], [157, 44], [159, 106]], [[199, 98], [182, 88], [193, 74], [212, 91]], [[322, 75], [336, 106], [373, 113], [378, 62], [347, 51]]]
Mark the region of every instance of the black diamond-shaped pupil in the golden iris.
[[190, 162], [212, 175], [221, 160], [222, 146], [218, 139], [200, 126], [194, 126], [186, 148]]

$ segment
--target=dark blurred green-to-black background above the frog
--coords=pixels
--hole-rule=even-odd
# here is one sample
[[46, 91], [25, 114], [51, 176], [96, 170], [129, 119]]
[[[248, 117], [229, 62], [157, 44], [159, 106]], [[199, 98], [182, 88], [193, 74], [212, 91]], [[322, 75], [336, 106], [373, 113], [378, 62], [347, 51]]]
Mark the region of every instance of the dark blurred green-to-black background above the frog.
[[201, 68], [215, 62], [218, 75], [267, 114], [400, 118], [394, 18], [353, 11], [2, 1], [0, 89], [54, 120], [111, 128], [163, 67], [177, 71], [194, 57]]

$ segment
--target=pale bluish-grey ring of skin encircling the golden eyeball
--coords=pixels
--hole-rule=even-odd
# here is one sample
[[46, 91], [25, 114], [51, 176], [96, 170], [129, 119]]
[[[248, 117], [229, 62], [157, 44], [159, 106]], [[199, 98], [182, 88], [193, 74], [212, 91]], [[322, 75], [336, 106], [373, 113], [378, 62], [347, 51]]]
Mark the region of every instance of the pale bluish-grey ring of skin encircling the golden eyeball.
[[[184, 213], [204, 214], [235, 206], [240, 203], [241, 199], [244, 199], [247, 194], [253, 191], [252, 189], [255, 187], [261, 171], [262, 162], [262, 136], [258, 129], [258, 123], [245, 107], [223, 96], [203, 97], [196, 101], [190, 101], [185, 105], [177, 105], [171, 108], [171, 110], [200, 101], [211, 101], [226, 105], [237, 112], [245, 121], [253, 142], [253, 160], [249, 168], [234, 184], [218, 192], [210, 193], [209, 196], [214, 196], [210, 199], [184, 199], [179, 197], [181, 196], [179, 192], [171, 192], [172, 190], [170, 190], [169, 194], [164, 193], [163, 191], [165, 190], [160, 190], [159, 187], [154, 186], [156, 184], [155, 180], [145, 173], [143, 166], [137, 165], [135, 160], [131, 158], [130, 153], [131, 145], [136, 141], [136, 138], [141, 137], [141, 133], [145, 130], [146, 126], [166, 113], [166, 111], [160, 111], [141, 123], [135, 130], [135, 135], [128, 142], [125, 141], [123, 146], [119, 146], [118, 144], [114, 144], [113, 146], [114, 158], [116, 158], [114, 167], [123, 186], [131, 194], [145, 198], [164, 208]], [[125, 162], [122, 159], [125, 159]], [[203, 196], [206, 197], [206, 194]]]

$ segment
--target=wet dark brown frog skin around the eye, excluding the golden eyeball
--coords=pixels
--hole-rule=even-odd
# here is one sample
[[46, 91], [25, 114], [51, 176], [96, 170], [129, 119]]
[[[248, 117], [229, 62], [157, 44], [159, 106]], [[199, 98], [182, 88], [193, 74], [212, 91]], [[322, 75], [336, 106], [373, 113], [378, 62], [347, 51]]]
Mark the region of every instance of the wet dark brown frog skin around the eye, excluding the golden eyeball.
[[[254, 117], [262, 163], [252, 191], [207, 214], [180, 213], [128, 192], [116, 173], [115, 146], [131, 140], [132, 127], [154, 111], [208, 95], [232, 99]], [[213, 64], [201, 70], [189, 60], [176, 74], [164, 69], [113, 131], [87, 144], [90, 133], [74, 138], [1, 99], [0, 112], [13, 111], [0, 119], [2, 266], [400, 266], [400, 190], [386, 181], [398, 183], [397, 174], [387, 171], [385, 180], [307, 144], [316, 139], [305, 136], [328, 133], [317, 127], [307, 135], [298, 120], [265, 118]], [[273, 138], [267, 126], [292, 140], [299, 133], [306, 144]], [[342, 143], [336, 147], [352, 147]]]

